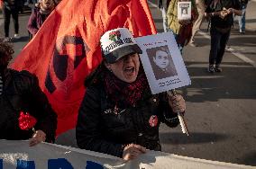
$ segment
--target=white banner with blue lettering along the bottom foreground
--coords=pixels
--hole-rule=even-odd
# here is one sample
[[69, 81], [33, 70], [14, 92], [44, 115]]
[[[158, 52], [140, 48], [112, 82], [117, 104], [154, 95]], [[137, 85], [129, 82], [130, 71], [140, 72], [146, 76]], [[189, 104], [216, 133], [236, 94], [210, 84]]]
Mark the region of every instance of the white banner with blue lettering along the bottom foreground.
[[121, 158], [78, 148], [41, 143], [29, 147], [28, 141], [0, 140], [0, 169], [252, 169], [167, 153], [148, 151], [125, 163]]

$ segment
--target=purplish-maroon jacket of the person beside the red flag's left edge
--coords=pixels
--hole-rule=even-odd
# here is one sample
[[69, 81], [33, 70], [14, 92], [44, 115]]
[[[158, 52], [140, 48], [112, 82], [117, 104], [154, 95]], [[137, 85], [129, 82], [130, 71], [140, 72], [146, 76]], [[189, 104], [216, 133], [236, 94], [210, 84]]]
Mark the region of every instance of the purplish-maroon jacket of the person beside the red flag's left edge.
[[40, 9], [38, 7], [34, 8], [27, 25], [28, 31], [32, 34], [32, 36], [39, 31], [42, 23], [46, 20], [49, 14], [42, 14], [40, 13]]

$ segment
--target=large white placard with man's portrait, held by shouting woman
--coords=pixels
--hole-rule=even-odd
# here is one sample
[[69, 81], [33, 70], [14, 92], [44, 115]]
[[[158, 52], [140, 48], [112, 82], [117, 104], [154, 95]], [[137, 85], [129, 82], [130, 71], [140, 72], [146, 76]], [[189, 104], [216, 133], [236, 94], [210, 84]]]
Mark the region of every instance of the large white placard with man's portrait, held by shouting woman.
[[142, 66], [151, 93], [162, 93], [191, 84], [176, 40], [171, 32], [136, 38], [142, 49]]

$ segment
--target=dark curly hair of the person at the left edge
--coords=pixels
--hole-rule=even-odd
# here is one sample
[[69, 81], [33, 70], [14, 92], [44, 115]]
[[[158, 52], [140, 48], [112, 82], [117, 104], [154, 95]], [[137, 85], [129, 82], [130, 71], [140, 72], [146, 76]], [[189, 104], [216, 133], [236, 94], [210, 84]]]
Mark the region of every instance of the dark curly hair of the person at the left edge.
[[9, 61], [13, 58], [14, 48], [8, 42], [0, 40], [0, 65], [8, 65]]

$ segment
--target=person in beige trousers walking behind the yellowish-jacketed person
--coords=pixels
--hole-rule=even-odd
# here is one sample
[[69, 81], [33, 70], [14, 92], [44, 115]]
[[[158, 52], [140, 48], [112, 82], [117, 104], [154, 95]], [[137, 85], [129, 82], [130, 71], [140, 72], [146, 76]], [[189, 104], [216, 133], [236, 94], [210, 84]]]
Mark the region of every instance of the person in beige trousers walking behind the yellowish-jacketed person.
[[197, 44], [195, 43], [195, 35], [197, 34], [197, 31], [200, 30], [201, 24], [204, 21], [205, 11], [206, 11], [205, 0], [196, 0], [196, 5], [197, 5], [198, 18], [197, 18], [197, 21], [194, 22], [193, 24], [192, 36], [189, 41], [189, 45], [192, 47], [197, 47]]

